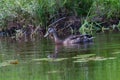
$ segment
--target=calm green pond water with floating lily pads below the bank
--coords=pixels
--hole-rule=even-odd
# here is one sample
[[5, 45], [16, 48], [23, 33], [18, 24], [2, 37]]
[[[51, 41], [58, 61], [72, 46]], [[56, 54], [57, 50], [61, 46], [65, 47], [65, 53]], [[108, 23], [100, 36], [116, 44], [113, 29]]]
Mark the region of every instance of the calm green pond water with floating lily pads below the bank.
[[0, 80], [120, 80], [119, 74], [119, 33], [75, 46], [0, 40]]

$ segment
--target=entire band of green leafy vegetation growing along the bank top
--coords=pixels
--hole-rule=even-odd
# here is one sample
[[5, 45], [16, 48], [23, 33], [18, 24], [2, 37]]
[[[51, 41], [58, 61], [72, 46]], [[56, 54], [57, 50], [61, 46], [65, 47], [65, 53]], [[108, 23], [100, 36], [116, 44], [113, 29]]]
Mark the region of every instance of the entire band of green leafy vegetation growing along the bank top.
[[1, 0], [0, 7], [1, 28], [10, 22], [48, 27], [61, 17], [76, 16], [81, 20], [79, 27], [87, 29], [79, 29], [83, 34], [108, 26], [119, 29], [120, 0]]

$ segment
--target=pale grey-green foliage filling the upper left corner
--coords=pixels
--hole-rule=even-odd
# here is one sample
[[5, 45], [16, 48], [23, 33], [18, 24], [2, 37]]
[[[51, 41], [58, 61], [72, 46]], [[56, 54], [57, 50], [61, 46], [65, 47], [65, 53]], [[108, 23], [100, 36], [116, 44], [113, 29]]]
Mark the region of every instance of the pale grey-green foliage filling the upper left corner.
[[35, 9], [35, 1], [32, 0], [1, 0], [0, 1], [0, 26], [7, 21], [26, 19], [32, 17]]

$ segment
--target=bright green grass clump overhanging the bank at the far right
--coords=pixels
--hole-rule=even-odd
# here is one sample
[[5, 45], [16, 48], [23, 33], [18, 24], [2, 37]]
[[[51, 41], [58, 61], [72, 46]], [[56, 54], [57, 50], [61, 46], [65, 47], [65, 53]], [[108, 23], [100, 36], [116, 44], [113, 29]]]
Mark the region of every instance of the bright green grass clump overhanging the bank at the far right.
[[119, 8], [120, 0], [93, 1], [79, 32], [82, 34], [93, 34], [93, 32], [97, 31], [111, 30], [110, 28], [112, 30], [117, 28], [120, 31], [118, 23], [120, 18]]

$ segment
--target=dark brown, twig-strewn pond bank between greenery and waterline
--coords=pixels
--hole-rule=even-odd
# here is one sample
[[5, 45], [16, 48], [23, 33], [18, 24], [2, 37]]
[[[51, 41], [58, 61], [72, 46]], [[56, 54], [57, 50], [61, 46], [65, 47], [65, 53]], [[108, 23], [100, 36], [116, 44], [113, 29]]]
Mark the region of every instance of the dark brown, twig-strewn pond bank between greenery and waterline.
[[[96, 23], [97, 22], [97, 23]], [[92, 27], [94, 30], [94, 34], [100, 33], [100, 32], [106, 32], [106, 31], [120, 31], [120, 22], [118, 18], [113, 18], [113, 19], [105, 19], [102, 18], [101, 20], [98, 19], [96, 22], [89, 22], [87, 21], [86, 23], [81, 21], [81, 18], [75, 17], [75, 16], [67, 16], [63, 17], [54, 21], [49, 25], [49, 27], [55, 27], [56, 30], [58, 31], [59, 35], [63, 36], [68, 36], [71, 34], [82, 34], [80, 32], [80, 28], [83, 26], [84, 28], [89, 28]], [[101, 23], [101, 24], [100, 24]], [[18, 21], [10, 21], [7, 23], [7, 28], [1, 29], [0, 30], [0, 36], [1, 37], [17, 37], [17, 38], [22, 38], [23, 36], [26, 37], [33, 37], [33, 36], [43, 36], [46, 33], [45, 27], [41, 26], [35, 26], [33, 24], [27, 24], [25, 25], [18, 22]], [[87, 31], [87, 30], [86, 30]], [[88, 33], [89, 34], [89, 33]]]

